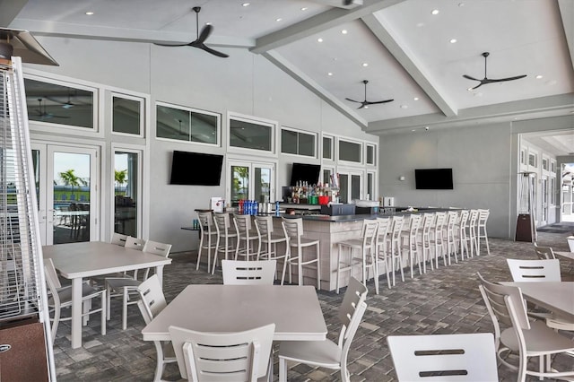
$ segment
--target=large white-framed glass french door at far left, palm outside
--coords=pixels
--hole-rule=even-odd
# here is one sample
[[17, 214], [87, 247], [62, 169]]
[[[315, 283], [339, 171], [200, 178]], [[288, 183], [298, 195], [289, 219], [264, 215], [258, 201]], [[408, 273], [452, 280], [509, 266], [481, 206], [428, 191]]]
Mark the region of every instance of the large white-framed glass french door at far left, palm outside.
[[98, 238], [97, 149], [32, 143], [42, 245]]

